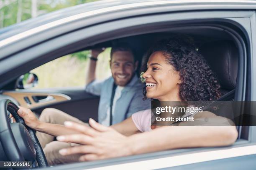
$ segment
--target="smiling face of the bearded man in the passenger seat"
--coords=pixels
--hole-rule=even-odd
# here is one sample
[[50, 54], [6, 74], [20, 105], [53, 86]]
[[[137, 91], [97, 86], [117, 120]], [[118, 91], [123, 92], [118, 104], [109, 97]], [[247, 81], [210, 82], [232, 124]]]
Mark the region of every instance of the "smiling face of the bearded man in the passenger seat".
[[113, 53], [110, 68], [115, 84], [125, 86], [130, 82], [138, 62], [134, 62], [133, 54], [130, 51], [116, 51]]

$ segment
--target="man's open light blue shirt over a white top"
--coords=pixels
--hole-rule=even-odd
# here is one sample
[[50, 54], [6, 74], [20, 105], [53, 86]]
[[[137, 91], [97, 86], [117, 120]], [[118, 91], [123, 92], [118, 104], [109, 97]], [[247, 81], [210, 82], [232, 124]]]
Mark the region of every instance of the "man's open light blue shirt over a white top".
[[[113, 84], [114, 79], [111, 76], [103, 81], [94, 80], [85, 88], [86, 92], [100, 96], [98, 109], [98, 122], [100, 123], [107, 117]], [[120, 98], [115, 103], [113, 124], [122, 122], [135, 112], [151, 108], [151, 101], [143, 100], [143, 87], [143, 83], [134, 75], [128, 85], [123, 88]]]

